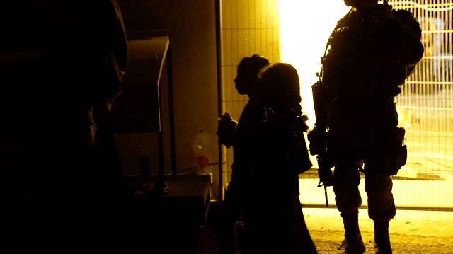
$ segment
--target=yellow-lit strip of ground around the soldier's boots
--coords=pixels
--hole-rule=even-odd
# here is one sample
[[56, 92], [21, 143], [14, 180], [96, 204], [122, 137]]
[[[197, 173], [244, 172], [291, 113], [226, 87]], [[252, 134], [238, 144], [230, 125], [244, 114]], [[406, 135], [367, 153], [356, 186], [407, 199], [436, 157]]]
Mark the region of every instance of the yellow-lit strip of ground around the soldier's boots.
[[[337, 209], [304, 207], [304, 215], [319, 253], [342, 253], [337, 250], [344, 233]], [[359, 218], [366, 253], [374, 253], [373, 223], [366, 209], [360, 209]], [[453, 253], [453, 212], [397, 210], [389, 231], [394, 254]]]

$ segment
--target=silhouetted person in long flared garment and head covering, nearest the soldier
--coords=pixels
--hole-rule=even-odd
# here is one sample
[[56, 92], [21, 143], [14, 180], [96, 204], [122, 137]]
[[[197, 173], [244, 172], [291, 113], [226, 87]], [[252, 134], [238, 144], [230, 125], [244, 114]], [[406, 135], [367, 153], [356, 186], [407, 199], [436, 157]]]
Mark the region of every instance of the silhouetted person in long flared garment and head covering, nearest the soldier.
[[299, 75], [291, 64], [263, 71], [261, 120], [248, 151], [250, 187], [244, 254], [317, 253], [299, 200], [299, 174], [311, 168]]

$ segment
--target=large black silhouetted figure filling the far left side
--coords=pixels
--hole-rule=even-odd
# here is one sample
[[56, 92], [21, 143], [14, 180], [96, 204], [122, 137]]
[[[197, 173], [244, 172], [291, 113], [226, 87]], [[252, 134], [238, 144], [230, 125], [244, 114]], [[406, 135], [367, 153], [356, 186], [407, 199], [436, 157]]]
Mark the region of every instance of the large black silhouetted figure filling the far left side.
[[127, 41], [115, 0], [3, 1], [0, 248], [122, 252], [122, 171], [108, 129]]

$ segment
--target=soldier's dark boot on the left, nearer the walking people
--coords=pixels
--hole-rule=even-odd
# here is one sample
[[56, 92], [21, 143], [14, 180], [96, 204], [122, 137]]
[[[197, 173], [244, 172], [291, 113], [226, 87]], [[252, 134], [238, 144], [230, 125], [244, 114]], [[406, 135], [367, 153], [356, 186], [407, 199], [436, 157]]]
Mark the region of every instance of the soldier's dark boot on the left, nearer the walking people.
[[343, 216], [345, 227], [345, 239], [338, 250], [345, 250], [348, 254], [365, 253], [365, 244], [363, 244], [362, 234], [359, 229], [358, 214], [352, 216]]

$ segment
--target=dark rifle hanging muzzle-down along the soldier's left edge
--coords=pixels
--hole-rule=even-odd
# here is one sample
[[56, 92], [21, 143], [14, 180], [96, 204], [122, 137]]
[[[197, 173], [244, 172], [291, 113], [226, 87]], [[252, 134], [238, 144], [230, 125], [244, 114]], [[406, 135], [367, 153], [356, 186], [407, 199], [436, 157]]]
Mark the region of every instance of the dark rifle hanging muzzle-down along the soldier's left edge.
[[[326, 45], [326, 50], [324, 56], [321, 57], [321, 64], [326, 57], [326, 52], [328, 45]], [[326, 198], [326, 207], [328, 207], [328, 198], [327, 198], [327, 187], [333, 185], [333, 175], [331, 168], [333, 168], [333, 163], [329, 160], [327, 154], [327, 132], [328, 132], [328, 108], [331, 103], [331, 92], [328, 91], [326, 85], [322, 83], [321, 77], [323, 74], [323, 69], [316, 73], [316, 76], [319, 77], [319, 81], [316, 81], [314, 85], [311, 86], [311, 92], [313, 93], [313, 104], [314, 112], [316, 117], [316, 122], [314, 129], [311, 129], [307, 137], [309, 139], [309, 149], [311, 155], [317, 155], [316, 161], [318, 161], [318, 176], [319, 183], [317, 187], [324, 187], [324, 196]]]

